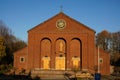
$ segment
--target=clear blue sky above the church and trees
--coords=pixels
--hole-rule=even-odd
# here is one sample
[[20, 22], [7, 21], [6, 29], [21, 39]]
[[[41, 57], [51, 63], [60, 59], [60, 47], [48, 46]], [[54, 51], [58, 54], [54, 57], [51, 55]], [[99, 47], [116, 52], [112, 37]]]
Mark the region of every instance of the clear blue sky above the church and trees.
[[120, 0], [0, 0], [0, 20], [27, 41], [27, 31], [60, 12], [94, 29], [120, 31]]

